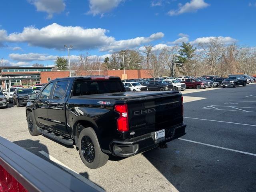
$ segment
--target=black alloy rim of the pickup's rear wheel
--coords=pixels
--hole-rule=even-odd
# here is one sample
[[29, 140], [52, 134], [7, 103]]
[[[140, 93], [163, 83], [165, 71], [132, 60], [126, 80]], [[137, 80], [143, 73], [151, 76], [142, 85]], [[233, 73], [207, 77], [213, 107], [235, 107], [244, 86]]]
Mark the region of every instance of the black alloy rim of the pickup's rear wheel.
[[81, 150], [82, 154], [85, 158], [85, 160], [88, 163], [91, 163], [94, 161], [95, 158], [95, 150], [94, 150], [94, 145], [92, 143], [92, 140], [88, 136], [84, 136], [81, 140]]

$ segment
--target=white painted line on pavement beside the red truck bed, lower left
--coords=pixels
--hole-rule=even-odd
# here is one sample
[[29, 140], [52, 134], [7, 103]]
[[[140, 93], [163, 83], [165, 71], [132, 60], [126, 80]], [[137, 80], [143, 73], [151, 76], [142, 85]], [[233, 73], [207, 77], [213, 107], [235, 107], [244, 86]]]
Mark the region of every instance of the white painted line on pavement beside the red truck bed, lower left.
[[82, 175], [80, 175], [78, 172], [72, 170], [71, 168], [69, 168], [68, 166], [66, 166], [65, 164], [63, 164], [62, 162], [60, 162], [59, 160], [57, 160], [56, 158], [54, 158], [53, 156], [50, 156], [48, 153], [46, 153], [45, 151], [39, 151], [43, 156], [46, 156], [48, 159], [50, 159], [51, 161], [53, 161], [54, 163], [58, 164], [58, 166], [60, 166], [62, 169], [66, 170], [67, 172], [69, 172], [70, 174], [72, 174], [73, 176], [75, 176], [76, 178], [78, 178], [79, 180], [81, 180], [82, 182], [92, 186], [93, 188], [95, 188], [96, 190], [100, 191], [100, 192], [104, 192], [104, 190], [102, 188], [100, 188], [98, 185], [94, 184], [93, 182], [89, 181], [88, 179], [86, 179], [85, 177], [83, 177]]

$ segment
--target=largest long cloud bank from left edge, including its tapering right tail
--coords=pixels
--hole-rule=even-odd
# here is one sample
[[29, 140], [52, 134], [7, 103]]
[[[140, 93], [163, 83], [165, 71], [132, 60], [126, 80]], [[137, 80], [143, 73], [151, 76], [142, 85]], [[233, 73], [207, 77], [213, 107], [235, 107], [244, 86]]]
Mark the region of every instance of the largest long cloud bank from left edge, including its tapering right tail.
[[64, 45], [73, 45], [76, 50], [100, 49], [100, 51], [113, 51], [135, 48], [140, 44], [148, 43], [164, 36], [162, 32], [154, 33], [149, 37], [137, 37], [116, 41], [114, 37], [107, 36], [108, 30], [102, 28], [84, 29], [80, 26], [61, 26], [53, 23], [41, 29], [34, 26], [24, 27], [22, 32], [7, 34], [0, 30], [1, 42], [25, 42], [29, 46], [54, 48], [63, 50]]

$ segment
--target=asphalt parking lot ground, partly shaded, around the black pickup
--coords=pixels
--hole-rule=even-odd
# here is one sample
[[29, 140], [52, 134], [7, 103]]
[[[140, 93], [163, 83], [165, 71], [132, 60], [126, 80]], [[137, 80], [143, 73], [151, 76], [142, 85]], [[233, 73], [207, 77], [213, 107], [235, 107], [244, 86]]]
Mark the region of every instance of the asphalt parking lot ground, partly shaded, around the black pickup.
[[[256, 84], [185, 90], [187, 134], [90, 170], [75, 148], [30, 136], [25, 107], [0, 109], [1, 136], [88, 178], [106, 191], [256, 191]], [[51, 158], [49, 160], [46, 156]], [[45, 156], [46, 155], [46, 156]]]

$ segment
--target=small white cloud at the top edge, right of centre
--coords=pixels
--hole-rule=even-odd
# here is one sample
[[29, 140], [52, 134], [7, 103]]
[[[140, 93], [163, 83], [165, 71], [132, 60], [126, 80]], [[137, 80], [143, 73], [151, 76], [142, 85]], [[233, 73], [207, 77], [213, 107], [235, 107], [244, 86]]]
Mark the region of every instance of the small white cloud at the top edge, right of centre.
[[206, 8], [210, 6], [210, 4], [204, 2], [204, 0], [191, 0], [190, 2], [187, 2], [184, 5], [179, 3], [178, 6], [179, 8], [177, 10], [170, 10], [168, 14], [170, 16], [173, 16], [183, 13], [197, 12], [197, 10]]

